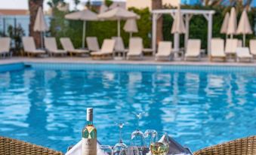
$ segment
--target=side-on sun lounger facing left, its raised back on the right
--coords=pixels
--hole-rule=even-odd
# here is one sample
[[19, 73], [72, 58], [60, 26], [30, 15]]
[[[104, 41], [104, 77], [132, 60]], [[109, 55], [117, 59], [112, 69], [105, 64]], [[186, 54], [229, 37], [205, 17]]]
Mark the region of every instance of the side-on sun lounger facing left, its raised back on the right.
[[113, 50], [115, 47], [115, 40], [113, 39], [105, 39], [103, 41], [103, 45], [101, 49], [97, 52], [92, 52], [91, 56], [93, 59], [109, 59], [113, 58]]

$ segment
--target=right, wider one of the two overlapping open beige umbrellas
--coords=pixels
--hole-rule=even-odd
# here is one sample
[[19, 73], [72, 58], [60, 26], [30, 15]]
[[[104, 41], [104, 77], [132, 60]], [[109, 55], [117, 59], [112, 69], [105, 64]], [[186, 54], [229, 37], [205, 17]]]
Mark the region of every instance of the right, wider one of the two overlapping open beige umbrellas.
[[120, 21], [128, 19], [136, 19], [138, 16], [134, 12], [127, 11], [124, 8], [114, 8], [113, 10], [106, 11], [103, 14], [97, 16], [101, 20], [117, 20], [118, 36], [120, 37]]

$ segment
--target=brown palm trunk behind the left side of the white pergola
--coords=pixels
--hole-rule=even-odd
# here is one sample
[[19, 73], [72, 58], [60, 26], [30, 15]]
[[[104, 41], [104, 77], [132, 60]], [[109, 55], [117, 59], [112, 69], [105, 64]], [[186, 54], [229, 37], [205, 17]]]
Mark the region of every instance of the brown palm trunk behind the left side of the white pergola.
[[[162, 0], [152, 0], [152, 10], [161, 9]], [[162, 17], [157, 20], [156, 42], [162, 41]]]

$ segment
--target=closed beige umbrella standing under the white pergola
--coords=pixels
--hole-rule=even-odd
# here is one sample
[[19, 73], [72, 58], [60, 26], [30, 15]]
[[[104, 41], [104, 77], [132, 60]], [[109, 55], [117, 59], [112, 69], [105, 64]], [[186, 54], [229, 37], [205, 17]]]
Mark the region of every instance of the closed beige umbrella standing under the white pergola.
[[[174, 23], [171, 27], [171, 33], [179, 36], [180, 34], [186, 33], [185, 24], [183, 16], [180, 12], [180, 5], [177, 8], [176, 14], [174, 16]], [[177, 37], [174, 39], [174, 50], [178, 50], [180, 46], [180, 38]]]

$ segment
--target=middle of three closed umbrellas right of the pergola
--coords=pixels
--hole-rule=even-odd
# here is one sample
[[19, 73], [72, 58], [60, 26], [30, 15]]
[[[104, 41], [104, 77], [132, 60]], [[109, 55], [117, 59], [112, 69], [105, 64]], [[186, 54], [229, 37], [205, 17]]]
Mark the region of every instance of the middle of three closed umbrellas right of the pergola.
[[230, 13], [230, 20], [227, 25], [227, 35], [231, 35], [231, 38], [233, 38], [233, 35], [236, 35], [236, 29], [237, 29], [236, 9], [232, 8]]

